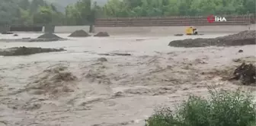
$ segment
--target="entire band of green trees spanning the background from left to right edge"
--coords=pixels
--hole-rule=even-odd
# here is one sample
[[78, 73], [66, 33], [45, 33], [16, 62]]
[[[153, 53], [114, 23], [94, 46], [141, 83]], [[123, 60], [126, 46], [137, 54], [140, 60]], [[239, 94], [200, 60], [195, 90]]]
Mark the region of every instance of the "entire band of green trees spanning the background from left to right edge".
[[65, 14], [43, 0], [0, 0], [0, 24], [92, 24], [94, 17], [256, 14], [255, 0], [109, 0], [98, 6], [80, 0]]

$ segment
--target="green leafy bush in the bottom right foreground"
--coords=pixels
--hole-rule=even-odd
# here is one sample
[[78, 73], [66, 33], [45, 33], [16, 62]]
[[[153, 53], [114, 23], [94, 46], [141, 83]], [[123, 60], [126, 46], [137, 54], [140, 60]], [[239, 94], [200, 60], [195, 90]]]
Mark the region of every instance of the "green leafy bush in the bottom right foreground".
[[210, 91], [210, 99], [190, 96], [175, 112], [155, 109], [146, 126], [256, 126], [255, 110], [248, 93]]

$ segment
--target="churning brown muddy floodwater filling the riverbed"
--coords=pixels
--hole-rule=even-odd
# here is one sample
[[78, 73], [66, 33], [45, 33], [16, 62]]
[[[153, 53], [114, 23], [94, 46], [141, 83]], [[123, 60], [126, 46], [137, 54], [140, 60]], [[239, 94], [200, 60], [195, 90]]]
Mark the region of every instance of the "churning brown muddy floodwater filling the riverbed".
[[168, 46], [174, 39], [227, 34], [85, 38], [56, 34], [69, 40], [0, 43], [0, 49], [26, 46], [67, 50], [0, 57], [0, 125], [142, 126], [157, 106], [174, 107], [190, 94], [207, 96], [210, 86], [235, 90], [239, 86], [222, 80], [222, 76], [240, 65], [234, 59], [256, 62], [256, 46]]

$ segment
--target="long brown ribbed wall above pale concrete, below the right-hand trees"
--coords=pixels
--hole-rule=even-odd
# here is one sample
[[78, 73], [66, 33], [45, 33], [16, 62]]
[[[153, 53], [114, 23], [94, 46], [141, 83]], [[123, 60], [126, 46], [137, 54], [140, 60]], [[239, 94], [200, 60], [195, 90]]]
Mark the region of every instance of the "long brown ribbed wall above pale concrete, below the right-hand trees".
[[[214, 17], [214, 16], [213, 16]], [[207, 17], [117, 17], [98, 18], [95, 27], [162, 27], [162, 26], [216, 26], [248, 25], [253, 21], [252, 15], [222, 16], [225, 22], [209, 23]]]

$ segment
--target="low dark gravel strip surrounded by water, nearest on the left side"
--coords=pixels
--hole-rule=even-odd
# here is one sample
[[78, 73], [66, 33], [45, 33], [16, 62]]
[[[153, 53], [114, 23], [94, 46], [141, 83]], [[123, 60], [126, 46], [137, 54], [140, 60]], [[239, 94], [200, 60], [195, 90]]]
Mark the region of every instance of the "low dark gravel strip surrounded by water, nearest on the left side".
[[43, 52], [62, 52], [65, 49], [50, 49], [50, 48], [37, 48], [37, 47], [14, 47], [8, 49], [0, 49], [0, 55], [14, 56], [14, 55], [32, 55]]

